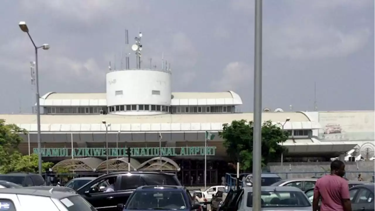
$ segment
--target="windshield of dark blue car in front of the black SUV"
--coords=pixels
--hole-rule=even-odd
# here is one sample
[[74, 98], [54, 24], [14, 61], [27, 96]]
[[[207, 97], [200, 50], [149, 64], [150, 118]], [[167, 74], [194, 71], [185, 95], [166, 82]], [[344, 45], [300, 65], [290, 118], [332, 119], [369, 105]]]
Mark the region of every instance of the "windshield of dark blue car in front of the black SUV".
[[131, 209], [187, 209], [182, 190], [139, 190], [128, 200]]

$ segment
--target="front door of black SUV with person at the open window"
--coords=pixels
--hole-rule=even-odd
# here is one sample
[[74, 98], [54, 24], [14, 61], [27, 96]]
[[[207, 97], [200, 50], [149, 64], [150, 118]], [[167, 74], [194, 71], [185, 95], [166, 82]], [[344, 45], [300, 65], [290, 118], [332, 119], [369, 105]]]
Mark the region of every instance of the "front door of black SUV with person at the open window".
[[95, 179], [94, 181], [88, 183], [83, 188], [81, 188], [78, 193], [81, 194], [84, 199], [90, 202], [98, 211], [111, 211], [116, 210], [117, 203], [112, 200], [115, 196], [118, 195], [117, 191], [104, 192], [99, 190], [99, 187], [108, 181], [110, 178], [115, 178], [115, 190], [120, 180], [119, 176], [108, 175]]

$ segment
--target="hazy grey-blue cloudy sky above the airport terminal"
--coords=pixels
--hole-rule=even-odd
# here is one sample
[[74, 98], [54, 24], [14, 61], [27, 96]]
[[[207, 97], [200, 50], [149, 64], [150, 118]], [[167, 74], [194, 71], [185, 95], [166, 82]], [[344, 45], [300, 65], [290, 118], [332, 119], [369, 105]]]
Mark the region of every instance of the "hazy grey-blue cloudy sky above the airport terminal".
[[[121, 66], [125, 44], [142, 32], [142, 66], [171, 64], [174, 92], [222, 92], [253, 110], [254, 0], [2, 0], [0, 113], [30, 113], [40, 95], [105, 92], [108, 63]], [[374, 0], [264, 0], [264, 108], [374, 110]], [[124, 62], [123, 62], [124, 63]], [[124, 65], [123, 65], [124, 66]], [[314, 88], [315, 86], [316, 88]], [[315, 90], [315, 91], [314, 91]]]

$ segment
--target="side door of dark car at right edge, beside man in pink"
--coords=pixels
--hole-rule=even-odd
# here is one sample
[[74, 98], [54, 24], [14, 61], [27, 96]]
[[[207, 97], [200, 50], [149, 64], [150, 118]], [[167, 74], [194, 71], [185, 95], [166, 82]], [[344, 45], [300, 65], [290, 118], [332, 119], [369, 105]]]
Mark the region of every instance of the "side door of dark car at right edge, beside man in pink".
[[352, 203], [353, 211], [374, 211], [374, 193], [367, 188], [359, 188], [358, 193]]

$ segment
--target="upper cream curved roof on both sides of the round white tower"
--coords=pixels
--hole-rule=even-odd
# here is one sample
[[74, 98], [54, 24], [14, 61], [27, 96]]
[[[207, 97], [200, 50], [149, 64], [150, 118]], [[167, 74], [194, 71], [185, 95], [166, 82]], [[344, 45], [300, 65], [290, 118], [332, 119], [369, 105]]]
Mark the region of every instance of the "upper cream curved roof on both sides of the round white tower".
[[[172, 92], [171, 105], [242, 105], [233, 92]], [[106, 93], [55, 93], [43, 95], [40, 106], [107, 106]]]

